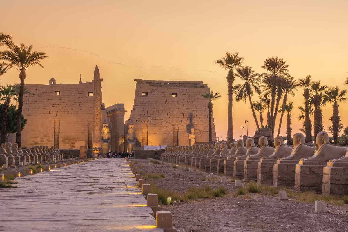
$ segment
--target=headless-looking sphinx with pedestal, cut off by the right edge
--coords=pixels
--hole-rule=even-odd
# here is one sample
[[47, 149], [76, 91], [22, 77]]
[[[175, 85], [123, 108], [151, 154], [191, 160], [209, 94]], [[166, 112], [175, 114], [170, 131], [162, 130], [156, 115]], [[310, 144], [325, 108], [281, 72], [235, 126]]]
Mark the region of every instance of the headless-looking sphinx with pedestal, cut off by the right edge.
[[348, 149], [346, 155], [329, 160], [323, 169], [323, 194], [348, 195]]

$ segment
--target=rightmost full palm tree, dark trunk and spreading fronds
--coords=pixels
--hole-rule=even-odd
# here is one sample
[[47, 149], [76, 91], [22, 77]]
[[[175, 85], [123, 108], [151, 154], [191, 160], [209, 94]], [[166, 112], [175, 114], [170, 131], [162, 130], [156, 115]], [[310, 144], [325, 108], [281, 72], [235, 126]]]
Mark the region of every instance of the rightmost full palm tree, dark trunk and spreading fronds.
[[340, 88], [338, 86], [329, 88], [329, 90], [325, 91], [325, 102], [332, 103], [332, 116], [331, 116], [331, 122], [332, 122], [332, 131], [333, 131], [333, 141], [335, 144], [337, 144], [337, 138], [338, 138], [338, 130], [339, 130], [339, 124], [341, 121], [341, 117], [339, 116], [338, 112], [338, 103], [345, 102], [347, 97], [347, 90], [343, 89], [340, 91]]

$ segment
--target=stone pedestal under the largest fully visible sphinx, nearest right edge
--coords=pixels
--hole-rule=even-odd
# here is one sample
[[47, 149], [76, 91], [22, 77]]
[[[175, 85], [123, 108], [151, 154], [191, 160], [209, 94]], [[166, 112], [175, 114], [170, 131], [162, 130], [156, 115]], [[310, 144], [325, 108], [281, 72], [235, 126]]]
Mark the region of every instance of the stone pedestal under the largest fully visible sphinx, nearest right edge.
[[327, 162], [313, 162], [314, 165], [296, 165], [295, 186], [298, 191], [322, 192], [323, 187], [323, 168]]

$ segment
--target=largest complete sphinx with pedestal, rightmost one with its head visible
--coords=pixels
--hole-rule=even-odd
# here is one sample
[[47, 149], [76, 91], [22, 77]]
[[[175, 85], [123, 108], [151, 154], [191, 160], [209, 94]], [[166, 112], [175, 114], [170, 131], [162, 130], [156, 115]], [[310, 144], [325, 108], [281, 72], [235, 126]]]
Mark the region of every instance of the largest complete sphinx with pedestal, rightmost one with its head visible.
[[325, 131], [317, 134], [314, 155], [302, 158], [295, 168], [295, 190], [321, 192], [323, 187], [323, 168], [331, 159], [346, 154], [346, 147], [332, 145]]

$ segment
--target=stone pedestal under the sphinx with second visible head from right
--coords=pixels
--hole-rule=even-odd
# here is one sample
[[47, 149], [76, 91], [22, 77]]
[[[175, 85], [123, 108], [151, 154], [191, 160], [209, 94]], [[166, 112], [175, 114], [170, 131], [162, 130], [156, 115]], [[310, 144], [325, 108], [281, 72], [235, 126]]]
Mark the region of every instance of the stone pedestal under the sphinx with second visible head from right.
[[277, 161], [273, 166], [273, 186], [290, 187], [295, 185], [295, 167], [298, 161]]

